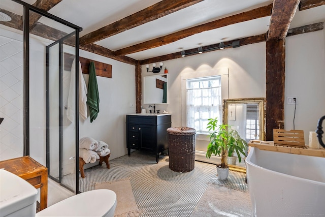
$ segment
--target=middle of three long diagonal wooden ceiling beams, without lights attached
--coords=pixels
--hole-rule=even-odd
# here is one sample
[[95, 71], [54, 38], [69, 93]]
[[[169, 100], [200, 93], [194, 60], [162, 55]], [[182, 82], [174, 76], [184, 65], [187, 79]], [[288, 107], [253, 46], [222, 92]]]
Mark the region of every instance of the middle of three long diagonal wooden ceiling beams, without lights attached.
[[175, 41], [178, 41], [180, 39], [186, 38], [188, 36], [192, 36], [198, 33], [202, 33], [208, 30], [212, 30], [215, 28], [220, 28], [224, 26], [228, 26], [231, 24], [239, 23], [239, 22], [244, 22], [252, 19], [257, 19], [261, 17], [266, 17], [266, 16], [271, 16], [271, 11], [272, 11], [272, 4], [268, 6], [264, 6], [261, 8], [256, 8], [250, 11], [246, 11], [240, 14], [236, 14], [233, 16], [225, 17], [222, 19], [218, 19], [212, 22], [208, 22], [205, 24], [201, 24], [198, 26], [194, 26], [191, 28], [183, 29], [180, 30], [179, 32], [169, 34], [167, 36], [162, 36], [156, 39], [152, 39], [140, 44], [136, 44], [133, 46], [129, 46], [126, 48], [122, 48], [120, 50], [115, 51], [116, 55], [126, 55], [130, 53], [136, 53], [139, 51], [163, 46]]

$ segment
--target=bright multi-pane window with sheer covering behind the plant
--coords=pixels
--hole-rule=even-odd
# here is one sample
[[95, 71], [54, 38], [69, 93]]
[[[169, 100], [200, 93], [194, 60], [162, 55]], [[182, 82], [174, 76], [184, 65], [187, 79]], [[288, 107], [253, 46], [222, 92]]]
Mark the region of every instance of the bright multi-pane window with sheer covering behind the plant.
[[221, 76], [186, 80], [187, 126], [208, 133], [209, 118], [221, 116]]

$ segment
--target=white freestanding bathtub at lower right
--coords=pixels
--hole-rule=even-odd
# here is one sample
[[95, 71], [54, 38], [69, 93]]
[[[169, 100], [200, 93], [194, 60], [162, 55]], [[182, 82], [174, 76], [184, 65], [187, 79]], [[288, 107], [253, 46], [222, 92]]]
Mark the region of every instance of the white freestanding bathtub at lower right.
[[255, 216], [325, 216], [325, 158], [251, 147], [246, 173]]

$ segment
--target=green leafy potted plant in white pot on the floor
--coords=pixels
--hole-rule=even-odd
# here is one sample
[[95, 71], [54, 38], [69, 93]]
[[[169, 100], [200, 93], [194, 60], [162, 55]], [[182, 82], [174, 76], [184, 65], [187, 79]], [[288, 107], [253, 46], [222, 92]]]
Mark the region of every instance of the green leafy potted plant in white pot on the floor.
[[217, 118], [208, 119], [207, 129], [210, 135], [210, 142], [207, 147], [207, 158], [211, 155], [221, 157], [221, 164], [217, 164], [218, 179], [225, 180], [228, 178], [229, 166], [226, 165], [228, 154], [231, 156], [234, 152], [237, 153], [238, 161], [241, 162], [240, 153], [245, 156], [247, 142], [240, 138], [238, 132], [234, 129], [228, 129], [228, 125], [217, 125]]

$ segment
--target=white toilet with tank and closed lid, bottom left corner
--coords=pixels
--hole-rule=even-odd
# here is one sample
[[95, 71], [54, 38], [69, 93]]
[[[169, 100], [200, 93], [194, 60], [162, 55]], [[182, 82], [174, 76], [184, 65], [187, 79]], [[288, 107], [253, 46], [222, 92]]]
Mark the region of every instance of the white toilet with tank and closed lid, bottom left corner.
[[0, 170], [0, 216], [114, 216], [116, 194], [84, 192], [36, 213], [37, 190], [19, 176]]

